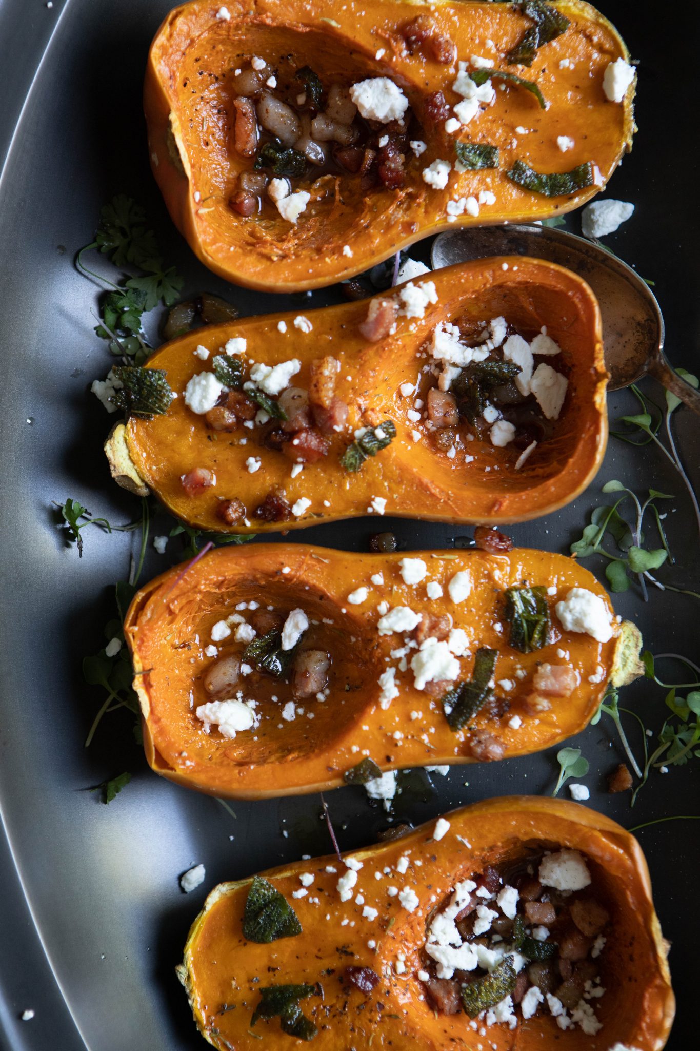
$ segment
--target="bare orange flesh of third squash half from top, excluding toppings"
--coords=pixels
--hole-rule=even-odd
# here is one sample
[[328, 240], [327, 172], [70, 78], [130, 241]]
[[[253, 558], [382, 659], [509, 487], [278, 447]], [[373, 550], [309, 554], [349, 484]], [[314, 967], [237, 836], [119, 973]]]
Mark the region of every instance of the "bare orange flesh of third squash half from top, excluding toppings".
[[[556, 586], [557, 595], [549, 599], [552, 611], [571, 588], [582, 586], [599, 595], [612, 614], [604, 590], [574, 559], [526, 549], [497, 556], [481, 551], [416, 555], [428, 564], [426, 580], [442, 583], [441, 599], [425, 598], [424, 584], [403, 583], [400, 554], [364, 555], [300, 544], [219, 548], [189, 569], [176, 566], [142, 588], [128, 611], [124, 632], [133, 659], [133, 685], [151, 768], [214, 796], [260, 799], [338, 787], [343, 775], [365, 755], [382, 770], [474, 762], [469, 729], [450, 729], [440, 703], [430, 706], [429, 695], [413, 687], [410, 671], [397, 673], [400, 696], [388, 708], [380, 706], [379, 676], [399, 663], [384, 658], [403, 645], [404, 635], [379, 636], [377, 605], [382, 600], [393, 607], [449, 613], [453, 626], [463, 627], [474, 643], [469, 646], [472, 652], [476, 644], [501, 651], [495, 679], [511, 679], [515, 685], [510, 693], [497, 688], [496, 695], [507, 697], [510, 708], [501, 718], [482, 713], [472, 722], [503, 744], [504, 758], [537, 751], [577, 734], [597, 710], [608, 681], [622, 685], [641, 674], [641, 640], [627, 621], [614, 624], [615, 634], [606, 643], [561, 631], [560, 639], [547, 648], [521, 654], [505, 641], [507, 628], [499, 620], [503, 606], [495, 592], [523, 580]], [[462, 570], [470, 573], [472, 591], [457, 605], [447, 584]], [[372, 584], [370, 576], [379, 572], [384, 583]], [[368, 585], [370, 595], [360, 605], [349, 604], [347, 595], [359, 584]], [[266, 719], [257, 729], [238, 734], [234, 740], [214, 728], [206, 735], [194, 714], [211, 699], [201, 677], [213, 661], [203, 647], [214, 623], [230, 615], [238, 602], [252, 599], [283, 611], [301, 606], [310, 620], [334, 621], [317, 628], [320, 648], [331, 653], [334, 662], [331, 694], [324, 703], [316, 699], [297, 702], [313, 713], [313, 721], [299, 715], [293, 722], [282, 722], [278, 713], [281, 703], [291, 699], [291, 689], [267, 678], [267, 685], [246, 691], [241, 679], [238, 687], [247, 698], [260, 702]], [[560, 626], [553, 613], [552, 622]], [[197, 644], [192, 641], [195, 636], [200, 640]], [[348, 637], [357, 640], [354, 645], [348, 645]], [[568, 660], [556, 657], [557, 647], [569, 653]], [[580, 682], [571, 697], [554, 698], [551, 709], [540, 712], [529, 707], [525, 699], [532, 693], [535, 667], [544, 661], [570, 663]], [[469, 677], [472, 663], [468, 657], [462, 659], [461, 677]], [[526, 672], [522, 680], [516, 667]], [[591, 677], [599, 681], [591, 682]], [[271, 701], [272, 694], [282, 694], [280, 705]], [[421, 713], [418, 720], [411, 719], [415, 710]], [[268, 713], [275, 715], [268, 719]], [[508, 725], [514, 714], [522, 718], [517, 729]], [[397, 730], [402, 735], [398, 741], [394, 738]]]

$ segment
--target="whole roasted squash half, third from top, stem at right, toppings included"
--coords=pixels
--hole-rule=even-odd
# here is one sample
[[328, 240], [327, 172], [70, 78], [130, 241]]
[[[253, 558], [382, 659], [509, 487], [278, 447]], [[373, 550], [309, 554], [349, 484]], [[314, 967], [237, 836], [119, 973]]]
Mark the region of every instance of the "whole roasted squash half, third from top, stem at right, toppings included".
[[243, 799], [537, 751], [642, 671], [592, 574], [528, 550], [219, 548], [142, 588], [125, 636], [151, 767]]

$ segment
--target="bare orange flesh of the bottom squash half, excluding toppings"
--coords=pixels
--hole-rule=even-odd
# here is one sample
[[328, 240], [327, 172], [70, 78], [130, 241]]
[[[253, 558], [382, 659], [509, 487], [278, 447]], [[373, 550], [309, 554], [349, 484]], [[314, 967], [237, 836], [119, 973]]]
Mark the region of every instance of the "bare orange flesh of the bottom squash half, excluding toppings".
[[[378, 1034], [383, 1038], [380, 1047], [390, 1046], [396, 1051], [416, 1047], [422, 1051], [446, 1047], [475, 1051], [480, 1044], [487, 1043], [499, 1051], [549, 1047], [609, 1051], [616, 1042], [639, 1051], [660, 1051], [675, 1012], [666, 963], [669, 946], [654, 911], [646, 862], [634, 837], [589, 807], [542, 797], [487, 800], [453, 810], [447, 818], [450, 828], [439, 845], [430, 839], [434, 827], [430, 822], [399, 840], [354, 852], [353, 857], [364, 866], [357, 887], [379, 909], [374, 922], [362, 918], [361, 905], [340, 902], [336, 890], [338, 875], [324, 871], [326, 864], [343, 871], [334, 857], [300, 861], [263, 873], [292, 901], [292, 891], [300, 886], [299, 874], [313, 872], [313, 894], [320, 898], [319, 906], [310, 903], [309, 898], [292, 901], [302, 933], [273, 945], [255, 945], [242, 937], [240, 921], [251, 881], [216, 887], [192, 925], [184, 963], [177, 969], [197, 1027], [209, 1043], [215, 1048], [235, 1051], [257, 1048], [264, 1051], [267, 1046], [281, 1049], [288, 1043], [293, 1046], [292, 1038], [280, 1033], [277, 1019], [250, 1028], [259, 998], [258, 986], [251, 980], [259, 975], [261, 984], [321, 981], [323, 1010], [318, 1000], [302, 1004], [304, 1013], [319, 1027], [312, 1044], [317, 1051], [344, 1047], [367, 1051], [377, 1046]], [[419, 950], [425, 939], [426, 916], [436, 899], [441, 903], [457, 880], [480, 871], [485, 864], [497, 864], [504, 856], [515, 853], [519, 844], [532, 840], [584, 852], [594, 863], [591, 866], [594, 881], [599, 881], [612, 905], [613, 931], [600, 956], [601, 981], [607, 991], [595, 1002], [596, 1014], [603, 1025], [595, 1036], [587, 1036], [579, 1029], [561, 1033], [552, 1017], [537, 1015], [528, 1023], [521, 1019], [513, 1031], [494, 1025], [484, 1038], [469, 1028], [464, 1014], [433, 1014], [425, 1001], [419, 998], [422, 989], [416, 976], [421, 966]], [[413, 888], [420, 904], [412, 913], [402, 909], [396, 898], [387, 898], [384, 881], [374, 879], [375, 870], [394, 867], [408, 851], [411, 862], [420, 859], [422, 866], [411, 865], [406, 875], [388, 880]], [[326, 912], [331, 913], [330, 922], [324, 919]], [[343, 919], [355, 922], [355, 926], [346, 925], [340, 935]], [[390, 927], [389, 920], [394, 921]], [[377, 942], [374, 951], [367, 946], [370, 937]], [[342, 955], [338, 949], [341, 941]], [[405, 954], [406, 962], [406, 973], [401, 976], [394, 969], [399, 952]], [[267, 968], [272, 961], [278, 969], [269, 976]], [[341, 985], [339, 972], [348, 964], [372, 967], [380, 974], [382, 981], [368, 997]], [[323, 974], [325, 968], [333, 968], [333, 972]], [[384, 1005], [381, 1016], [378, 1002]], [[218, 1014], [224, 1003], [236, 1004], [236, 1009]], [[343, 1003], [347, 1004], [346, 1009]], [[256, 1037], [262, 1037], [267, 1044]]]

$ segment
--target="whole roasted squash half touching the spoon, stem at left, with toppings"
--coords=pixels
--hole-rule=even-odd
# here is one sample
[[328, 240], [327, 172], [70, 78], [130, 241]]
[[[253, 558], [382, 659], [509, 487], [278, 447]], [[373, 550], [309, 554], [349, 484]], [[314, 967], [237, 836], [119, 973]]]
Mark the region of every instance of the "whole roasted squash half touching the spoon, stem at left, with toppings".
[[197, 329], [148, 365], [163, 411], [113, 430], [112, 474], [206, 530], [522, 521], [577, 496], [606, 449], [597, 302], [539, 260]]

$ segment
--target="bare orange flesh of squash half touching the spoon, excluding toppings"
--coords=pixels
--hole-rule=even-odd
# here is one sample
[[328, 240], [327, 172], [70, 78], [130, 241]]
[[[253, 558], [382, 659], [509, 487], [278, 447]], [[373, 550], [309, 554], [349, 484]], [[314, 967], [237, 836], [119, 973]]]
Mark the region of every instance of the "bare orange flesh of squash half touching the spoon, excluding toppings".
[[[507, 267], [507, 269], [504, 269]], [[135, 478], [150, 488], [178, 518], [213, 532], [267, 533], [300, 529], [321, 521], [338, 521], [368, 513], [373, 497], [386, 499], [386, 514], [433, 521], [507, 523], [550, 514], [581, 493], [595, 476], [608, 438], [606, 372], [600, 312], [590, 287], [577, 275], [552, 263], [524, 256], [478, 260], [446, 267], [426, 275], [434, 282], [438, 303], [423, 318], [400, 318], [397, 332], [367, 344], [359, 332], [369, 300], [309, 311], [311, 333], [294, 327], [297, 313], [269, 314], [195, 331], [163, 346], [149, 366], [165, 369], [178, 397], [163, 416], [152, 420], [131, 417], [126, 429], [118, 425], [107, 442], [112, 475], [128, 488], [125, 459], [131, 459]], [[420, 282], [419, 282], [420, 284]], [[401, 286], [399, 286], [401, 287]], [[380, 296], [385, 297], [385, 294]], [[440, 321], [467, 312], [480, 320], [504, 314], [516, 327], [534, 335], [543, 325], [559, 343], [556, 358], [569, 372], [570, 390], [554, 435], [543, 441], [524, 467], [514, 470], [508, 447], [494, 448], [488, 439], [469, 444], [475, 459], [450, 459], [434, 448], [424, 430], [407, 417], [411, 401], [400, 392], [406, 379], [418, 376], [416, 352]], [[278, 322], [287, 333], [280, 335]], [[246, 356], [268, 364], [297, 357], [301, 372], [294, 384], [307, 387], [311, 363], [324, 353], [341, 362], [336, 393], [349, 407], [349, 431], [376, 425], [367, 410], [397, 425], [397, 438], [354, 474], [339, 462], [351, 438], [332, 439], [331, 451], [306, 465], [296, 478], [291, 463], [279, 452], [260, 449], [248, 439], [238, 445], [239, 430], [216, 434], [185, 406], [188, 379], [211, 368], [194, 356], [198, 344], [212, 354], [231, 336], [248, 341]], [[560, 367], [557, 365], [557, 368]], [[423, 440], [411, 438], [416, 427]], [[219, 452], [221, 450], [221, 452]], [[254, 474], [246, 460], [259, 455], [262, 468]], [[216, 486], [200, 495], [185, 494], [181, 478], [193, 468], [211, 470]], [[299, 497], [312, 500], [300, 517], [262, 522], [255, 509], [275, 487], [281, 487], [290, 504]], [[227, 527], [217, 516], [220, 499], [237, 497], [248, 511], [248, 524]], [[324, 507], [323, 500], [331, 502]]]

